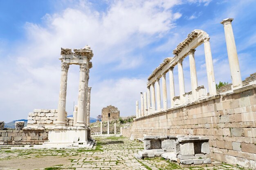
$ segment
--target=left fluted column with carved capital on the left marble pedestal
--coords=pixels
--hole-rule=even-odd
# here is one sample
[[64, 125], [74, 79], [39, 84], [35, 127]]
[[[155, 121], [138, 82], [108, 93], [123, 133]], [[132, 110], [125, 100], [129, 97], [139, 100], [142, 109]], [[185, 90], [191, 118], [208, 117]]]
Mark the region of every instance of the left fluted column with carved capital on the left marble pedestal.
[[68, 63], [61, 63], [61, 85], [58, 99], [58, 116], [56, 126], [65, 126], [66, 120], [66, 96], [67, 96], [67, 71], [70, 65]]

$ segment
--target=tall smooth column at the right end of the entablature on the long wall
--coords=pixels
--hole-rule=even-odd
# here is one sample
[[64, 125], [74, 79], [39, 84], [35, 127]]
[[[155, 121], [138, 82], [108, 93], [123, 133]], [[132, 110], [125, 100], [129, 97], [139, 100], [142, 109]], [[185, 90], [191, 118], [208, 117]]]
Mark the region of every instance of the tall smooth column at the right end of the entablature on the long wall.
[[216, 95], [216, 83], [213, 70], [213, 61], [211, 57], [211, 46], [210, 38], [204, 38], [204, 55], [205, 55], [205, 65], [207, 71], [207, 80], [209, 86], [209, 95]]

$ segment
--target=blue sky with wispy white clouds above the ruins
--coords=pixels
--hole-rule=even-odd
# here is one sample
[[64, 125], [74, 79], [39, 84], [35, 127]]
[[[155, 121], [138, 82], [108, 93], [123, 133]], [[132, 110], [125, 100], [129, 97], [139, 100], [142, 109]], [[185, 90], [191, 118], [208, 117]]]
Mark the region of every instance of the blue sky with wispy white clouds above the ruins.
[[[0, 120], [57, 108], [61, 47], [94, 52], [91, 116], [108, 105], [135, 115], [147, 77], [194, 29], [211, 37], [216, 82], [231, 82], [222, 19], [232, 22], [242, 79], [255, 73], [255, 0], [0, 0]], [[195, 52], [198, 85], [207, 85], [203, 45]], [[189, 60], [183, 62], [186, 92]], [[177, 68], [175, 91], [179, 95]], [[167, 82], [168, 82], [168, 76]], [[79, 67], [68, 73], [68, 115], [77, 104]], [[169, 100], [169, 99], [168, 99]]]

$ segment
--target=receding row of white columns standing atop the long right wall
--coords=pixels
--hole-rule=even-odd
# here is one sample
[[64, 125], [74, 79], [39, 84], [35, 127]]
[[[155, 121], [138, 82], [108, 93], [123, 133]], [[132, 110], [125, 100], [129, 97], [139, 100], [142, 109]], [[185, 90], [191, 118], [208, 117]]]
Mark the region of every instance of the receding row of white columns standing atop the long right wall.
[[[236, 44], [234, 39], [234, 34], [231, 26], [231, 22], [234, 20], [233, 18], [227, 18], [225, 20], [222, 20], [222, 24], [224, 25], [225, 30], [225, 38], [226, 38], [226, 44], [227, 44], [227, 52], [228, 52], [228, 58], [229, 58], [229, 67], [231, 72], [231, 79], [233, 83], [233, 88], [241, 87], [242, 86], [242, 79], [240, 75], [240, 67], [238, 63], [238, 55], [236, 52]], [[216, 95], [216, 82], [215, 82], [215, 76], [214, 76], [214, 70], [213, 70], [213, 60], [211, 55], [211, 46], [209, 42], [210, 38], [205, 37], [204, 38], [204, 55], [205, 55], [205, 64], [206, 64], [206, 70], [207, 70], [207, 82], [208, 82], [208, 88], [209, 88], [209, 95]], [[191, 91], [192, 91], [192, 97], [193, 100], [197, 100], [197, 92], [196, 88], [198, 88], [198, 79], [196, 74], [196, 67], [195, 67], [195, 49], [191, 49], [188, 53], [189, 55], [189, 66], [190, 66], [190, 77], [191, 77]], [[183, 73], [183, 66], [182, 66], [183, 60], [177, 61], [177, 67], [178, 67], [178, 79], [179, 79], [179, 91], [180, 91], [180, 102], [184, 103], [185, 101], [185, 84], [184, 84], [184, 73]], [[170, 98], [171, 98], [171, 108], [174, 107], [174, 101], [173, 97], [175, 97], [175, 88], [174, 88], [174, 79], [173, 79], [173, 66], [171, 66], [168, 69], [169, 73], [169, 84], [170, 84]], [[161, 74], [162, 78], [162, 95], [163, 95], [163, 109], [166, 110], [168, 108], [167, 106], [167, 91], [166, 91], [166, 73]], [[155, 82], [150, 84], [150, 86], [147, 87], [147, 93], [141, 93], [141, 111], [139, 110], [139, 102], [136, 101], [136, 115], [137, 117], [141, 117], [147, 114], [150, 114], [150, 112], [157, 112], [161, 111], [161, 94], [160, 94], [160, 82], [159, 78], [156, 79]], [[155, 101], [155, 83], [156, 83], [156, 99]], [[150, 88], [151, 92], [150, 93]], [[148, 95], [146, 98], [145, 96]], [[150, 96], [152, 97], [150, 100]], [[145, 102], [145, 99], [147, 102]], [[151, 103], [152, 101], [152, 103]], [[157, 104], [157, 107], [155, 106]], [[152, 109], [152, 110], [150, 110]], [[147, 110], [147, 112], [146, 112]], [[141, 112], [141, 114], [139, 113]]]

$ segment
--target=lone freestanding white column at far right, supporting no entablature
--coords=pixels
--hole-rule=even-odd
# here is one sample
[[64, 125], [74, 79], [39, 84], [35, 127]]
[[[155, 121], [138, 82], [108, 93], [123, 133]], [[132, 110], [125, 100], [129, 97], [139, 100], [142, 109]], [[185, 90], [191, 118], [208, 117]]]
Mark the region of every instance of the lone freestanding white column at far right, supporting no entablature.
[[238, 55], [236, 51], [236, 42], [234, 38], [234, 33], [232, 29], [231, 22], [234, 18], [227, 18], [220, 22], [224, 25], [225, 38], [227, 44], [227, 55], [229, 58], [229, 69], [231, 73], [232, 85], [233, 87], [242, 87], [242, 78], [240, 73], [240, 67], [238, 62]]

